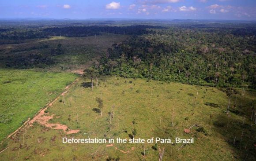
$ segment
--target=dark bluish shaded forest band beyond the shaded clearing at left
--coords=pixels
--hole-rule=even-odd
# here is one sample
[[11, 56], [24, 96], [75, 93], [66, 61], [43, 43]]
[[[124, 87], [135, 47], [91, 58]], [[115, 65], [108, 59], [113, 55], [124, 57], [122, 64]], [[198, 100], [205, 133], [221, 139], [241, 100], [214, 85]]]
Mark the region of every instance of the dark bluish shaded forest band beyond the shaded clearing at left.
[[[47, 28], [46, 28], [47, 27]], [[87, 37], [102, 33], [115, 34], [145, 34], [149, 28], [163, 28], [161, 26], [68, 26], [68, 27], [38, 27], [26, 29], [0, 29], [0, 39], [23, 40], [32, 38], [49, 38], [50, 36]]]

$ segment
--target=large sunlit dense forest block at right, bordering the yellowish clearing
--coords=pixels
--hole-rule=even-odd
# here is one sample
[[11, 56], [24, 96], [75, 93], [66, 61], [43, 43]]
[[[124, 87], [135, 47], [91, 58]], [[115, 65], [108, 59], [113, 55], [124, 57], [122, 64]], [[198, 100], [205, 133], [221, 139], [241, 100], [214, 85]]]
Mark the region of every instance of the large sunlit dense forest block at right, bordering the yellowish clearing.
[[150, 29], [113, 44], [102, 73], [187, 84], [256, 88], [256, 38], [239, 29]]

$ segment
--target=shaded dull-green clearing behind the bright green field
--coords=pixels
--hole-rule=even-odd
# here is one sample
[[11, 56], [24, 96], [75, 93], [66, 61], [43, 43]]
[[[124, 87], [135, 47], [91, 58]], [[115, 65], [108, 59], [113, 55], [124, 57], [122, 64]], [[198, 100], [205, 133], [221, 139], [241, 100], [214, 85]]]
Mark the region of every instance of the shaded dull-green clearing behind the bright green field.
[[[35, 66], [43, 70], [55, 72], [82, 73], [91, 66], [101, 55], [105, 55], [107, 48], [114, 43], [121, 43], [128, 36], [117, 34], [104, 34], [90, 37], [51, 37], [49, 39], [29, 39], [21, 44], [0, 45], [0, 67], [6, 67], [6, 62], [20, 56], [30, 54], [47, 55], [51, 49], [62, 44], [62, 55], [53, 56], [55, 63], [51, 65], [40, 64]], [[47, 47], [47, 48], [46, 48]]]

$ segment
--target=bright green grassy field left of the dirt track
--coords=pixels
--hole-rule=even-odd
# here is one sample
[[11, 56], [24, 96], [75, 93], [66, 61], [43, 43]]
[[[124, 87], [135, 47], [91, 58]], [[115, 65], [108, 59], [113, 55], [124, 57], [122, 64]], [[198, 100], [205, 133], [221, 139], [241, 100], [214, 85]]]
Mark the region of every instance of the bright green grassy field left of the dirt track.
[[55, 99], [78, 75], [0, 69], [0, 140]]

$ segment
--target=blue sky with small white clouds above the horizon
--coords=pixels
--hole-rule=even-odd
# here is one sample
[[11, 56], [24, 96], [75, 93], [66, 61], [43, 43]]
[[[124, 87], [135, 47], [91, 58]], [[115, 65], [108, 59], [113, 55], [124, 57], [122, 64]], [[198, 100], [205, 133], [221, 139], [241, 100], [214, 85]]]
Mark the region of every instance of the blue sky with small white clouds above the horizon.
[[0, 18], [256, 20], [256, 0], [0, 0]]

